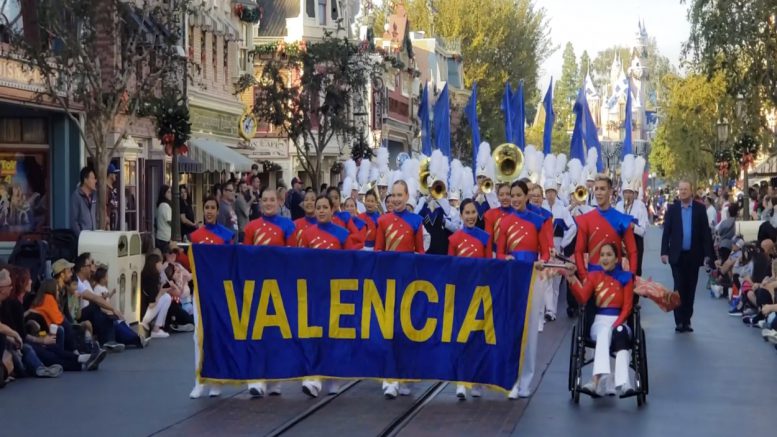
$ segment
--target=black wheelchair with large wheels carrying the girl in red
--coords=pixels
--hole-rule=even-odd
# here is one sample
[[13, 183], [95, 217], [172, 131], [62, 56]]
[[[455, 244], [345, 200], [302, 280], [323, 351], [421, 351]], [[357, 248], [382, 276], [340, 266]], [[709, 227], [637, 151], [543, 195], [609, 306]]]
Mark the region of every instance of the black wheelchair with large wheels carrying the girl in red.
[[[596, 347], [596, 343], [591, 340], [589, 331], [595, 314], [596, 306], [593, 300], [590, 300], [587, 305], [581, 306], [577, 323], [572, 328], [572, 340], [569, 351], [569, 391], [575, 404], [580, 402], [580, 393], [583, 386], [583, 368], [594, 361], [593, 348]], [[632, 328], [631, 332], [633, 333], [629, 368], [634, 371], [634, 393], [624, 397], [636, 397], [637, 406], [641, 407], [647, 401], [649, 385], [647, 344], [645, 342], [645, 330], [642, 329], [640, 321], [640, 306], [638, 304], [634, 305], [629, 321], [629, 325]], [[590, 353], [588, 349], [591, 349]]]

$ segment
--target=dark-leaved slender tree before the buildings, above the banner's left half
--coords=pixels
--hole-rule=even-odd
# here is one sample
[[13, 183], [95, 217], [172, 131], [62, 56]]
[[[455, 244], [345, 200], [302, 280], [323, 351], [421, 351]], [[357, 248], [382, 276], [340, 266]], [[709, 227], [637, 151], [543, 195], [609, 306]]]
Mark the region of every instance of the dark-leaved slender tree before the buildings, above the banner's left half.
[[324, 150], [339, 140], [342, 153], [359, 133], [350, 102], [382, 72], [380, 57], [367, 52], [366, 46], [357, 48], [347, 38], [331, 34], [307, 45], [259, 46], [254, 57], [264, 63], [254, 88], [254, 113], [292, 141], [302, 168], [317, 187]]

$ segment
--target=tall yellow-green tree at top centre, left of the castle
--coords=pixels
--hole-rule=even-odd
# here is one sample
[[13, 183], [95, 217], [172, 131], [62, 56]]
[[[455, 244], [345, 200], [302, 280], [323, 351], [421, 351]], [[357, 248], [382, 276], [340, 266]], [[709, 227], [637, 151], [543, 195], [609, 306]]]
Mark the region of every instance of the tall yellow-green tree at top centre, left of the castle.
[[[478, 83], [483, 139], [500, 142], [504, 84], [524, 81], [527, 102], [538, 100], [539, 66], [553, 51], [545, 10], [531, 0], [407, 0], [410, 25], [427, 35], [461, 41], [465, 86]], [[378, 26], [376, 20], [376, 27]], [[527, 120], [535, 108], [526, 106]]]

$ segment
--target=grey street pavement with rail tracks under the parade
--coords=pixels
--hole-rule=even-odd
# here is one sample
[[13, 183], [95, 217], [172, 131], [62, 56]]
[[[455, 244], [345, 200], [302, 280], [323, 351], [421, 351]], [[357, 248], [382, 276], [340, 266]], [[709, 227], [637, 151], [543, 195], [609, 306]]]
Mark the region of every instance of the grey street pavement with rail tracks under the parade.
[[[646, 242], [645, 274], [671, 284], [658, 262], [660, 229]], [[770, 413], [777, 397], [777, 353], [759, 330], [729, 317], [699, 281], [695, 332], [676, 334], [671, 314], [643, 301], [643, 327], [650, 363], [648, 403], [635, 399], [570, 401], [567, 391], [570, 326], [566, 317], [540, 334], [541, 377], [529, 400], [507, 401], [487, 392], [465, 402], [455, 387], [435, 391], [423, 408], [393, 433], [402, 436], [733, 436], [773, 434]], [[563, 312], [563, 302], [560, 308]], [[244, 387], [226, 387], [220, 398], [188, 399], [193, 384], [190, 334], [152, 340], [146, 350], [110, 355], [97, 372], [66, 373], [58, 379], [26, 379], [0, 390], [0, 436], [374, 436], [396, 424], [432, 382], [418, 383], [413, 396], [382, 398], [380, 383], [361, 381], [336, 398], [307, 399], [299, 383], [284, 384], [280, 397], [248, 399]], [[590, 367], [584, 371], [587, 378]], [[298, 421], [303, 418], [304, 420]]]

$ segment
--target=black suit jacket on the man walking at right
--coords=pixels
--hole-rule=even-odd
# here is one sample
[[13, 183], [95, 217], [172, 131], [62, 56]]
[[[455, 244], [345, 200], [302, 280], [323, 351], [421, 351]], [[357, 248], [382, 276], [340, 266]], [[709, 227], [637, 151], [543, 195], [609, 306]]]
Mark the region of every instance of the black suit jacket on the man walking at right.
[[[707, 222], [707, 211], [699, 202], [691, 204], [691, 250], [687, 256], [693, 265], [704, 264], [704, 257], [712, 259], [712, 234]], [[664, 235], [661, 238], [661, 255], [669, 256], [670, 264], [678, 264], [683, 251], [683, 218], [680, 201], [676, 200], [666, 210]]]

